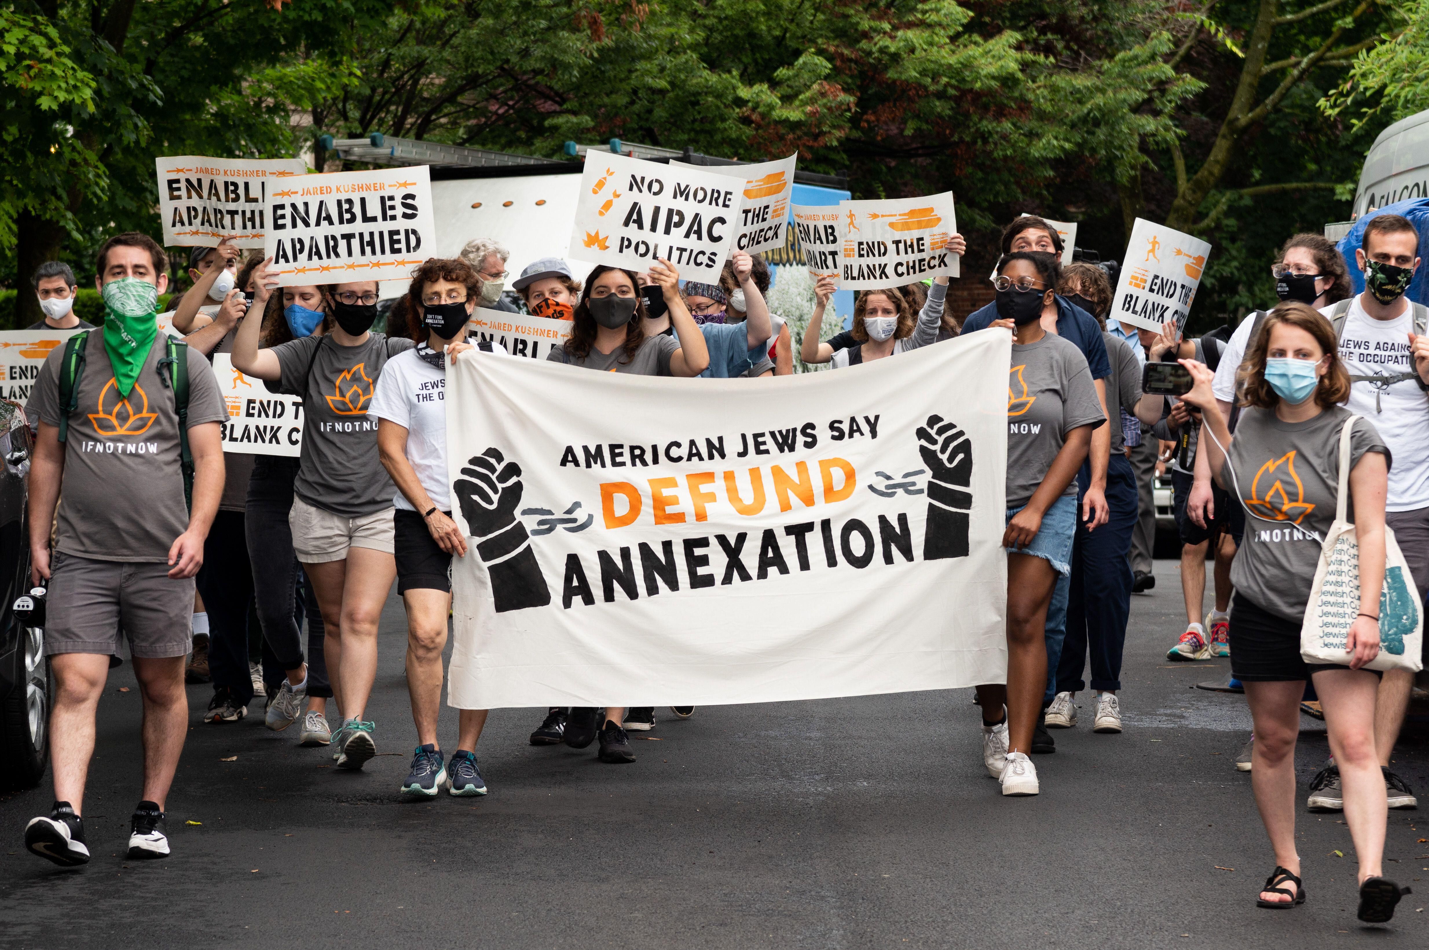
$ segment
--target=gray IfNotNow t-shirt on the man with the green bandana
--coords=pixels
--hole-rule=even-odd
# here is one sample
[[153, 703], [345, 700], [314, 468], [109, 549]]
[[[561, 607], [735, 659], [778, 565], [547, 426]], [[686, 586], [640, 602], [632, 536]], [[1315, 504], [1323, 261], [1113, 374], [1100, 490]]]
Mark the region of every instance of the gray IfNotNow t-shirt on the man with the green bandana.
[[[200, 354], [189, 356], [189, 429], [229, 417]], [[154, 336], [129, 399], [119, 397], [104, 334], [93, 331], [84, 350], [79, 409], [70, 416], [60, 481], [54, 550], [101, 561], [161, 563], [189, 529], [183, 499], [179, 413], [167, 377], [159, 374], [164, 334]], [[30, 411], [60, 424], [60, 361], [64, 347], [46, 357], [30, 397]]]

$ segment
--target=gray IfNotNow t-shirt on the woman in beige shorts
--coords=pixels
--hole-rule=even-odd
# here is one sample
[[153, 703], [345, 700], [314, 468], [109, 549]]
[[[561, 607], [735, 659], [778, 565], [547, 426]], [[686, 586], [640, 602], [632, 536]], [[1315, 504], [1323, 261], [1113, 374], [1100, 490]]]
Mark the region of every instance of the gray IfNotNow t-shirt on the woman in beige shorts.
[[[303, 501], [342, 517], [392, 507], [392, 479], [377, 457], [377, 420], [367, 409], [382, 367], [413, 346], [373, 333], [360, 346], [337, 346], [323, 336], [273, 347], [282, 391], [303, 397], [303, 459], [293, 483]], [[313, 371], [303, 379], [309, 363]]]

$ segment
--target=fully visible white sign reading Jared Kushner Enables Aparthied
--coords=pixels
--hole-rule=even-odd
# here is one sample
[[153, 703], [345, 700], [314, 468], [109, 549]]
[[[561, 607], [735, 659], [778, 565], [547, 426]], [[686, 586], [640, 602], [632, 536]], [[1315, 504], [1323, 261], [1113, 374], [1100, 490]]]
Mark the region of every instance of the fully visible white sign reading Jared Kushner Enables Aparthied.
[[304, 174], [269, 194], [279, 284], [410, 280], [436, 247], [427, 166]]

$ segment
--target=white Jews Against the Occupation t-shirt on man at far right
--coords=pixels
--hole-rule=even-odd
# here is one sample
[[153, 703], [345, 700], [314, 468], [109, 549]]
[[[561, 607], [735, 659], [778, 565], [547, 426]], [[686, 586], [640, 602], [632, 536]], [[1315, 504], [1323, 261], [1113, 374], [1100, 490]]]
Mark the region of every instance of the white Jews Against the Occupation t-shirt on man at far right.
[[[1333, 306], [1320, 310], [1330, 316]], [[1413, 307], [1393, 320], [1376, 320], [1365, 313], [1356, 296], [1345, 314], [1340, 360], [1350, 376], [1398, 376], [1413, 373], [1409, 334], [1415, 329]], [[1429, 396], [1413, 380], [1386, 386], [1362, 381], [1350, 386], [1345, 409], [1363, 416], [1379, 430], [1395, 459], [1389, 470], [1388, 511], [1429, 507]]]

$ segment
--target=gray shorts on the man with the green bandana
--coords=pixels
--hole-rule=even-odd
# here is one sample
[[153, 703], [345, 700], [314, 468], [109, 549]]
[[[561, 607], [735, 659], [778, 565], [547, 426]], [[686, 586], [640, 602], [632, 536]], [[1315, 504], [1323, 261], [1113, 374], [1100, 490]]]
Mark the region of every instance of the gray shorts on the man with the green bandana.
[[46, 596], [44, 651], [120, 654], [157, 660], [189, 653], [193, 577], [173, 580], [169, 564], [101, 561], [56, 551]]

